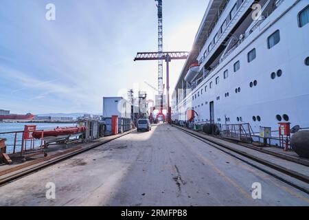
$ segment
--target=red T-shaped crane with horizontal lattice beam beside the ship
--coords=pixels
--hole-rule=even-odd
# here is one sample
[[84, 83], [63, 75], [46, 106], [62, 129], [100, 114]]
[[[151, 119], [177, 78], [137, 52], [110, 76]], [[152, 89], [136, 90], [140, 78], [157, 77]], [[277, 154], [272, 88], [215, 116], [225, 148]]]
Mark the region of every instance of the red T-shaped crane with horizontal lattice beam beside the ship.
[[[189, 52], [141, 52], [137, 53], [134, 61], [160, 61], [165, 60], [166, 62], [166, 102], [167, 102], [167, 110], [168, 117], [167, 120], [170, 122], [172, 111], [170, 108], [170, 62], [172, 60], [186, 60], [189, 56]], [[160, 115], [163, 115], [163, 94], [161, 95], [161, 109]]]

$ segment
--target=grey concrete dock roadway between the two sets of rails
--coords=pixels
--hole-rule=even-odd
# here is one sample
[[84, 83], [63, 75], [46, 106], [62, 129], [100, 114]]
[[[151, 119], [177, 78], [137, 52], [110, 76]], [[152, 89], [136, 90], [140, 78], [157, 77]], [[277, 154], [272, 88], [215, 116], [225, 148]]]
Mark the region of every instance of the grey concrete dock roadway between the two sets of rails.
[[[46, 198], [49, 182], [56, 199]], [[309, 195], [160, 124], [1, 186], [0, 206], [309, 206]]]

